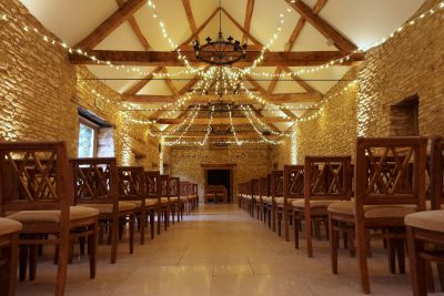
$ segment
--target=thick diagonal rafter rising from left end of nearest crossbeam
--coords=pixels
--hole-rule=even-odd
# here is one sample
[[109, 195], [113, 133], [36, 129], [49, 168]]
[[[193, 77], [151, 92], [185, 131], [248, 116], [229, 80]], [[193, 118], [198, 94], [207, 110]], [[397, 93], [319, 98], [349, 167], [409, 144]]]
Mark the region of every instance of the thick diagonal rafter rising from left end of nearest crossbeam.
[[128, 21], [142, 8], [148, 0], [128, 0], [122, 7], [114, 11], [107, 20], [97, 27], [90, 34], [82, 39], [75, 49], [92, 50], [111, 34], [119, 25]]

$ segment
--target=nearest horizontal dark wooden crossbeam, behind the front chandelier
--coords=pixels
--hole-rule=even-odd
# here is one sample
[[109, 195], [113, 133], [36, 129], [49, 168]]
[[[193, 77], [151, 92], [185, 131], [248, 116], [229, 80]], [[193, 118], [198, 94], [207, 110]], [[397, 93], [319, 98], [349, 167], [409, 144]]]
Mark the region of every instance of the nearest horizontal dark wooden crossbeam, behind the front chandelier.
[[[125, 65], [147, 65], [147, 67], [183, 67], [179, 61], [176, 52], [172, 51], [112, 51], [94, 50], [89, 51], [90, 55], [101, 61], [110, 61], [115, 64]], [[205, 65], [196, 61], [194, 52], [183, 52], [193, 65]], [[260, 52], [246, 52], [246, 59], [235, 63], [236, 67], [249, 67], [260, 57]], [[332, 60], [341, 59], [350, 54], [344, 51], [301, 51], [301, 52], [265, 52], [261, 67], [310, 67], [329, 63]], [[364, 53], [354, 53], [350, 60], [342, 65], [351, 65], [354, 62], [363, 61]], [[73, 64], [97, 64], [88, 57], [73, 53], [70, 55]]]

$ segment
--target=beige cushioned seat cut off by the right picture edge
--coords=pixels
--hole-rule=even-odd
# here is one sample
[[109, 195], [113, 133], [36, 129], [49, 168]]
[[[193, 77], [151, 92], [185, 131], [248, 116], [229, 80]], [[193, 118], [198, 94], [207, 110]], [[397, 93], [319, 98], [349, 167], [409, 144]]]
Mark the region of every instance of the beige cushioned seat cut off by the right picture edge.
[[406, 215], [404, 223], [421, 229], [444, 233], [444, 211], [425, 211]]

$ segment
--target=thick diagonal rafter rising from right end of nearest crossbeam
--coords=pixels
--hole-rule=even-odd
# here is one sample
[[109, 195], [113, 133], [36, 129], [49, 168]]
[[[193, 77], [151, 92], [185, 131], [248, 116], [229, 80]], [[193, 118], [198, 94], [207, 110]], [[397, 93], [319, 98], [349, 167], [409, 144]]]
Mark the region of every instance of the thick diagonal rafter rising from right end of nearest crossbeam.
[[302, 18], [310, 22], [321, 34], [341, 51], [353, 52], [357, 49], [351, 40], [334, 29], [327, 21], [321, 18], [313, 9], [305, 4], [302, 0], [285, 0]]

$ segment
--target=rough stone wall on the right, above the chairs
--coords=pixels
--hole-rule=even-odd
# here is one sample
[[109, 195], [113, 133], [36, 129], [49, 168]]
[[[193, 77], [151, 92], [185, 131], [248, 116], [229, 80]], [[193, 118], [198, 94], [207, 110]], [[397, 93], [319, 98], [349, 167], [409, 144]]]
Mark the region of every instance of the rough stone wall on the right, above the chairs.
[[[426, 1], [415, 16], [438, 2]], [[391, 106], [413, 95], [417, 95], [420, 102], [420, 135], [444, 135], [443, 16], [440, 11], [424, 18], [367, 52], [366, 61], [346, 75], [357, 80], [356, 86], [330, 100], [317, 119], [299, 124], [296, 153], [300, 163], [310, 154], [353, 155], [356, 136], [389, 136], [405, 131], [393, 124], [405, 124], [412, 119]], [[337, 83], [326, 95], [343, 86], [344, 82]], [[273, 162], [290, 163], [291, 147], [286, 143], [286, 147], [275, 150]], [[286, 152], [282, 153], [282, 149]]]

